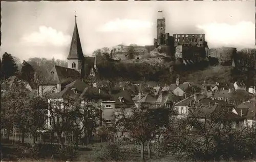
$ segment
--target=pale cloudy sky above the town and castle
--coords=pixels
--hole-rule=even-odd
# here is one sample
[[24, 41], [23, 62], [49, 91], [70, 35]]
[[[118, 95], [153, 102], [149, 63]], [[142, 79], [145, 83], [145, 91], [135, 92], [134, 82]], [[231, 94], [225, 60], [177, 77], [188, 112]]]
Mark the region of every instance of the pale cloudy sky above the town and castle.
[[157, 11], [166, 32], [205, 34], [209, 48], [255, 48], [255, 1], [1, 2], [1, 56], [65, 60], [75, 13], [84, 55], [118, 44], [153, 45]]

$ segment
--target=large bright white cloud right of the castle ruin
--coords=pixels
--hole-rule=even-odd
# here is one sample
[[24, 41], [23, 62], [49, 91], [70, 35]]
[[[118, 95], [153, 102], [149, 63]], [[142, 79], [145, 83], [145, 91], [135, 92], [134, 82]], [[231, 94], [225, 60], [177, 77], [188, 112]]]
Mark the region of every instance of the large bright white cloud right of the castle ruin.
[[241, 21], [237, 24], [218, 24], [217, 22], [198, 25], [203, 30], [209, 47], [233, 46], [242, 48], [255, 47], [255, 24]]

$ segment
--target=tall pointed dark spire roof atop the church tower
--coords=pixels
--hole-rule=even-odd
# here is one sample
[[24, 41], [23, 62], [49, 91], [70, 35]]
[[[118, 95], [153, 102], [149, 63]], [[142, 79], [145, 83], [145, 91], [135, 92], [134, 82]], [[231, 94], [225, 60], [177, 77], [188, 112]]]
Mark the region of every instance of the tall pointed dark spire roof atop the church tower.
[[73, 32], [73, 36], [70, 44], [69, 56], [67, 59], [79, 59], [79, 60], [84, 59], [83, 53], [82, 53], [82, 45], [81, 45], [81, 41], [78, 33], [77, 24], [76, 24], [76, 19], [75, 19], [75, 28], [74, 28], [74, 32]]

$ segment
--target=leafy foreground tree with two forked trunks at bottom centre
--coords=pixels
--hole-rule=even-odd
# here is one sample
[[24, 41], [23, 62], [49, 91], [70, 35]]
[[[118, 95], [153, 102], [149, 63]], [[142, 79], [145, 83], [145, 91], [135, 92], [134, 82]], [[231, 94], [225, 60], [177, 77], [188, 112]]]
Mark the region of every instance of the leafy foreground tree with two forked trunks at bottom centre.
[[144, 160], [145, 143], [147, 143], [148, 156], [151, 158], [151, 141], [169, 124], [170, 114], [170, 109], [141, 105], [140, 108], [132, 108], [130, 114], [119, 115], [118, 123], [140, 144], [141, 160]]

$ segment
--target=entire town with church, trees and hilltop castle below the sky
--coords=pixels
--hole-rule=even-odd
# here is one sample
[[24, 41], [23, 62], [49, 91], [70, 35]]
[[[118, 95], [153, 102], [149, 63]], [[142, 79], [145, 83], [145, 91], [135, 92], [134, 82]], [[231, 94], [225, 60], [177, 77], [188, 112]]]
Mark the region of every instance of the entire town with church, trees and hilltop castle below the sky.
[[[170, 36], [163, 12], [153, 45], [86, 56], [75, 15], [67, 60], [34, 58], [19, 68], [6, 52], [2, 160], [17, 160], [10, 152], [66, 161], [255, 159], [255, 49], [209, 48], [203, 33]], [[23, 149], [5, 151], [14, 145]]]

